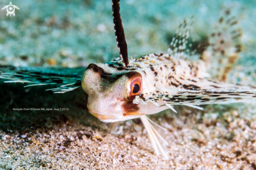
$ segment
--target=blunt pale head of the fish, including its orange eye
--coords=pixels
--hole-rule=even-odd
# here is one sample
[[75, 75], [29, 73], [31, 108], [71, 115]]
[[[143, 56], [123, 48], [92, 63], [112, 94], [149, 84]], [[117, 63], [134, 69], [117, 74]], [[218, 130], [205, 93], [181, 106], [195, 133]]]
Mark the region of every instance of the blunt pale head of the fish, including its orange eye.
[[[124, 67], [123, 67], [124, 68]], [[145, 105], [135, 104], [143, 92], [143, 76], [135, 69], [90, 64], [81, 79], [89, 112], [102, 122], [118, 122], [145, 115]]]

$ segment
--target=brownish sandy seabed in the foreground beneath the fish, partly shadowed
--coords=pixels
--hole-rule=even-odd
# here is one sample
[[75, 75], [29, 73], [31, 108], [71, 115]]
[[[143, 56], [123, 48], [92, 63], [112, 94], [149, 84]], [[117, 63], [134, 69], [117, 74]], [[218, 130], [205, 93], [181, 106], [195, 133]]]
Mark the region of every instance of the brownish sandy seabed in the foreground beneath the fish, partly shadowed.
[[[5, 86], [4, 89], [11, 91], [23, 84]], [[82, 90], [53, 97], [43, 90], [37, 92], [39, 97], [27, 92], [25, 101], [20, 99], [23, 93], [17, 92], [12, 98], [6, 96], [4, 101], [8, 102], [2, 106], [2, 169], [256, 168], [253, 103], [207, 105], [204, 111], [175, 106], [180, 114], [165, 111], [151, 115], [152, 120], [168, 129], [164, 137], [169, 143], [166, 151], [170, 160], [163, 160], [155, 155], [139, 119], [121, 123], [123, 131], [119, 135], [110, 134], [112, 124], [100, 122], [83, 108]], [[80, 97], [72, 99], [79, 94]], [[44, 108], [65, 105], [69, 111], [12, 111], [16, 104], [31, 109], [30, 98], [38, 103], [38, 106], [32, 104], [35, 108], [45, 102], [48, 104]], [[58, 104], [51, 104], [57, 100]], [[66, 104], [67, 100], [71, 104]]]

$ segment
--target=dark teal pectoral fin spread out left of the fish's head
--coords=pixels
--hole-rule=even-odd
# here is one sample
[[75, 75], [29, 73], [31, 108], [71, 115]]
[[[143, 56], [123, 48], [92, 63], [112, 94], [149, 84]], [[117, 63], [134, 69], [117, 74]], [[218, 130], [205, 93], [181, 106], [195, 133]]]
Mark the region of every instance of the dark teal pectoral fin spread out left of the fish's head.
[[58, 88], [48, 90], [65, 93], [81, 86], [84, 69], [0, 66], [0, 78], [9, 80], [5, 82], [32, 83], [25, 87], [60, 84]]

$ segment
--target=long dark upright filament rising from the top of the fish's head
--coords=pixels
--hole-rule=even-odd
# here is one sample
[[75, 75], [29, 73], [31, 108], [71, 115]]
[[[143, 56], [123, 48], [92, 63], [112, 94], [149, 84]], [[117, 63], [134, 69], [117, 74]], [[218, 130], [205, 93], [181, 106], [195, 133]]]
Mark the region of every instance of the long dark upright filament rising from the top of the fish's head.
[[120, 15], [119, 0], [112, 0], [112, 9], [117, 47], [119, 50], [120, 58], [122, 59], [124, 66], [127, 67], [129, 65], [128, 49], [125, 41], [124, 27]]

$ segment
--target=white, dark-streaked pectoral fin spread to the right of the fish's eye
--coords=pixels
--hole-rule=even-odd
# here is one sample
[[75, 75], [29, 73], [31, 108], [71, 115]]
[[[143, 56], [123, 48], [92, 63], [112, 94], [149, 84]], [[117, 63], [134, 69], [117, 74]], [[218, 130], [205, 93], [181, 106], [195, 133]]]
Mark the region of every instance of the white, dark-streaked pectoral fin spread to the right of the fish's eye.
[[147, 96], [140, 94], [136, 100], [142, 100], [144, 103], [155, 102], [158, 105], [165, 104], [169, 107], [171, 105], [187, 105], [201, 109], [197, 105], [247, 102], [255, 99], [256, 88], [253, 87], [206, 79], [197, 79], [197, 82], [194, 82], [190, 79], [175, 88], [160, 89]]

